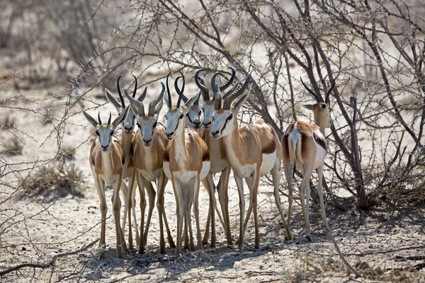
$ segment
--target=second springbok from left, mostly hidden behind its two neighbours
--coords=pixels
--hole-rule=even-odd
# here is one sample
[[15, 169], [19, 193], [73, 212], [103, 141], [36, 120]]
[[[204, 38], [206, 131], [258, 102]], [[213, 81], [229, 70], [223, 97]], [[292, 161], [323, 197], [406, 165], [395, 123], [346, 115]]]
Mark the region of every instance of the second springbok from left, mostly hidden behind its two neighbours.
[[[132, 75], [133, 76], [133, 75]], [[108, 90], [108, 88], [105, 88], [105, 95], [106, 98], [112, 105], [115, 107], [115, 109], [118, 111], [118, 115], [123, 112], [125, 109], [125, 102], [123, 95], [121, 93], [120, 89], [120, 79], [122, 76], [118, 78], [117, 81], [117, 88], [118, 88], [118, 95], [120, 96], [120, 103], [118, 100], [115, 99], [113, 94]], [[135, 78], [135, 89], [132, 93], [132, 98], [135, 98], [136, 92], [137, 92], [137, 78]], [[143, 100], [146, 97], [147, 88], [143, 91], [143, 93], [137, 98], [137, 100]], [[133, 129], [135, 127], [135, 113], [130, 108], [128, 111], [128, 115], [123, 121], [123, 124], [121, 128], [123, 129], [121, 132], [119, 132], [116, 137], [120, 141], [120, 145], [123, 148], [123, 154], [124, 154], [124, 160], [125, 163], [123, 164], [123, 182], [121, 183], [121, 190], [123, 191], [124, 200], [125, 200], [125, 209], [124, 209], [124, 219], [123, 219], [123, 226], [121, 226], [121, 229], [123, 230], [123, 233], [125, 232], [125, 219], [128, 215], [128, 225], [129, 225], [129, 232], [128, 232], [128, 247], [130, 250], [133, 249], [132, 246], [132, 230], [131, 230], [131, 214], [132, 211], [133, 219], [135, 219], [135, 229], [136, 229], [136, 242], [139, 243], [139, 231], [137, 229], [137, 221], [136, 221], [136, 210], [135, 210], [135, 168], [133, 166], [132, 162], [132, 139], [134, 137]], [[125, 184], [125, 181], [128, 179], [128, 186]], [[130, 208], [130, 209], [128, 209]], [[128, 212], [128, 214], [127, 214]]]

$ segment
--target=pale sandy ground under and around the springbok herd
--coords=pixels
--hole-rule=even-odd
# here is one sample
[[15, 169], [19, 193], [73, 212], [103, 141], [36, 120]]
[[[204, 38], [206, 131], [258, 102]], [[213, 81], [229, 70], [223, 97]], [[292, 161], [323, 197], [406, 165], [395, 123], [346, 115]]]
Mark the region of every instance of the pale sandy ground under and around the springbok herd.
[[[193, 86], [191, 86], [193, 87]], [[50, 115], [58, 119], [64, 113], [65, 98], [51, 98], [60, 95], [56, 89], [40, 89], [31, 91], [13, 90], [9, 84], [2, 89], [2, 97], [22, 95], [18, 103], [25, 104], [26, 108], [33, 108], [35, 112], [49, 110]], [[154, 96], [152, 91], [149, 96]], [[25, 100], [24, 100], [25, 98]], [[103, 91], [96, 89], [86, 97], [99, 103], [106, 103]], [[26, 102], [27, 101], [27, 102]], [[35, 101], [35, 103], [28, 103]], [[82, 103], [84, 108], [92, 107], [88, 102]], [[106, 118], [108, 111], [115, 110], [112, 105], [101, 108], [102, 117]], [[2, 110], [3, 111], [3, 110]], [[1, 156], [0, 162], [21, 163], [32, 162], [36, 158], [48, 159], [57, 151], [55, 134], [47, 139], [53, 126], [42, 126], [44, 118], [31, 111], [10, 110], [1, 113], [3, 117], [13, 117], [15, 125], [23, 129], [28, 135], [17, 132], [23, 141], [21, 155]], [[91, 171], [89, 170], [90, 135], [93, 133], [89, 123], [79, 113], [78, 107], [72, 109], [77, 114], [69, 119], [64, 132], [64, 144], [77, 148], [74, 159], [66, 161], [75, 163], [86, 176], [87, 188], [82, 195], [73, 195], [70, 192], [56, 190], [57, 197], [52, 201], [52, 192], [37, 197], [13, 198], [0, 207], [0, 223], [13, 216], [15, 212], [22, 214], [14, 216], [14, 221], [6, 233], [0, 230], [0, 272], [8, 267], [21, 263], [32, 262], [44, 264], [53, 256], [72, 252], [92, 243], [100, 236], [100, 210]], [[97, 112], [89, 110], [92, 115]], [[162, 110], [162, 113], [164, 109]], [[162, 115], [161, 115], [162, 116]], [[55, 125], [55, 122], [53, 123]], [[8, 131], [0, 131], [1, 140], [10, 139]], [[42, 141], [46, 141], [44, 144]], [[60, 161], [52, 161], [60, 164]], [[25, 168], [25, 164], [21, 166]], [[15, 166], [13, 168], [19, 168]], [[10, 170], [6, 168], [6, 171]], [[265, 180], [265, 179], [264, 179]], [[217, 181], [217, 176], [215, 176]], [[282, 192], [285, 192], [280, 182]], [[1, 187], [1, 200], [8, 197], [11, 190]], [[303, 235], [302, 213], [299, 200], [295, 200], [293, 222], [291, 229], [294, 241], [284, 241], [284, 230], [278, 211], [273, 202], [272, 187], [262, 184], [260, 188], [259, 219], [261, 221], [260, 237], [261, 248], [254, 250], [254, 228], [251, 221], [246, 232], [245, 248], [239, 250], [237, 246], [228, 247], [222, 232], [220, 222], [217, 221], [217, 248], [205, 246], [205, 254], [198, 257], [197, 252], [183, 251], [176, 258], [174, 249], [167, 244], [166, 254], [158, 253], [159, 225], [157, 209], [154, 209], [152, 224], [149, 229], [147, 253], [140, 255], [135, 252], [125, 254], [124, 258], [117, 258], [115, 251], [115, 226], [111, 209], [112, 190], [106, 191], [108, 200], [108, 219], [106, 223], [106, 259], [98, 259], [97, 243], [93, 247], [75, 255], [58, 258], [53, 265], [41, 270], [39, 268], [21, 268], [0, 277], [0, 282], [35, 282], [35, 281], [64, 281], [84, 282], [101, 281], [115, 282], [157, 282], [164, 280], [185, 282], [424, 282], [425, 273], [421, 270], [422, 260], [404, 258], [410, 255], [421, 255], [424, 252], [423, 215], [425, 207], [414, 209], [374, 209], [372, 212], [360, 212], [353, 207], [353, 200], [347, 199], [344, 204], [346, 212], [327, 206], [329, 224], [336, 236], [344, 254], [348, 255], [348, 262], [356, 266], [364, 278], [356, 278], [346, 271], [336, 255], [329, 236], [324, 231], [317, 204], [312, 206], [312, 242], [307, 242]], [[248, 190], [246, 189], [245, 192]], [[297, 195], [297, 192], [296, 192]], [[175, 238], [176, 216], [175, 201], [171, 183], [166, 186], [166, 214]], [[233, 178], [229, 184], [230, 220], [232, 236], [238, 236], [239, 206], [237, 189]], [[246, 200], [247, 197], [246, 197]], [[284, 209], [286, 197], [281, 196]], [[137, 197], [138, 203], [138, 197]], [[10, 210], [6, 210], [10, 209]], [[137, 205], [137, 217], [140, 221], [140, 212]], [[208, 195], [201, 187], [200, 192], [200, 223], [205, 229], [208, 213]], [[25, 221], [23, 221], [25, 219]], [[251, 218], [252, 220], [252, 218]], [[8, 222], [9, 223], [9, 222]], [[128, 227], [126, 229], [128, 231]], [[402, 248], [407, 248], [402, 250]], [[397, 250], [385, 253], [387, 250]], [[374, 255], [370, 255], [376, 253]], [[410, 267], [416, 266], [419, 271], [412, 272]]]

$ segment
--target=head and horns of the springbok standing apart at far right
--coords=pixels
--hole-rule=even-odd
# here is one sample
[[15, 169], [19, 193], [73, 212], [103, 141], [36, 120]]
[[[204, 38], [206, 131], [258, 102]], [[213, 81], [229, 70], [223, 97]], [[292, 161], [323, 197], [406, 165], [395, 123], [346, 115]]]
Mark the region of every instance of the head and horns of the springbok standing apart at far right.
[[329, 91], [326, 93], [326, 96], [324, 96], [324, 101], [322, 96], [318, 96], [314, 91], [312, 91], [308, 86], [305, 85], [304, 81], [302, 81], [302, 84], [305, 88], [307, 88], [307, 91], [314, 97], [317, 103], [314, 104], [305, 104], [302, 105], [308, 110], [312, 110], [313, 117], [314, 117], [314, 123], [318, 125], [319, 127], [331, 127], [331, 115], [330, 115], [330, 108], [329, 108], [329, 94], [331, 94], [332, 89], [335, 86], [335, 81], [332, 83], [331, 88], [329, 88]]

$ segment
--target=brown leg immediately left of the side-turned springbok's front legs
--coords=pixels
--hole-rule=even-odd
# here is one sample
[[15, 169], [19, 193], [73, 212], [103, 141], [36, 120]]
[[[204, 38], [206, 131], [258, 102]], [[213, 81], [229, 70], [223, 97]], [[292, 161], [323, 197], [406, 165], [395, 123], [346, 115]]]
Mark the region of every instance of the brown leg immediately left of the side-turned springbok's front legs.
[[227, 188], [229, 187], [229, 175], [230, 175], [230, 166], [227, 166], [220, 175], [220, 182], [218, 183], [218, 200], [222, 208], [224, 229], [227, 238], [227, 245], [232, 246], [232, 233], [230, 231], [230, 220], [229, 220], [229, 197], [227, 195]]

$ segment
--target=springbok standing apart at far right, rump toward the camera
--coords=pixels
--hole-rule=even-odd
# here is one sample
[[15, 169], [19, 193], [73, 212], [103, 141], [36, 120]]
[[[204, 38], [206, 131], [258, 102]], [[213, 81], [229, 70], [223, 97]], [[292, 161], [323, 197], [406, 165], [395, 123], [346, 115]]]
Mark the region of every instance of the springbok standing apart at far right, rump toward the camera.
[[[305, 236], [308, 241], [311, 241], [310, 231], [310, 178], [314, 169], [317, 169], [319, 180], [319, 198], [320, 209], [322, 209], [322, 218], [327, 226], [326, 214], [324, 212], [323, 202], [323, 168], [324, 157], [327, 154], [327, 144], [324, 136], [324, 129], [330, 127], [330, 110], [329, 110], [329, 94], [335, 86], [335, 81], [325, 96], [323, 101], [322, 97], [314, 93], [308, 88], [301, 80], [302, 84], [307, 88], [307, 91], [315, 98], [317, 103], [303, 105], [308, 110], [313, 112], [315, 125], [295, 121], [292, 122], [282, 137], [283, 149], [283, 166], [285, 166], [285, 177], [288, 181], [288, 224], [290, 226], [290, 214], [293, 203], [293, 172], [295, 169], [302, 170], [302, 181], [300, 185], [300, 198], [302, 215], [305, 221]], [[307, 210], [306, 210], [307, 206]], [[286, 237], [289, 241], [292, 240], [292, 235], [287, 232]]]

